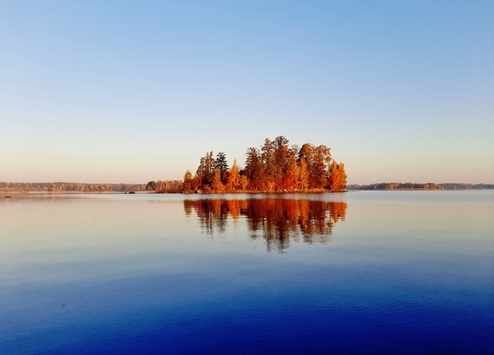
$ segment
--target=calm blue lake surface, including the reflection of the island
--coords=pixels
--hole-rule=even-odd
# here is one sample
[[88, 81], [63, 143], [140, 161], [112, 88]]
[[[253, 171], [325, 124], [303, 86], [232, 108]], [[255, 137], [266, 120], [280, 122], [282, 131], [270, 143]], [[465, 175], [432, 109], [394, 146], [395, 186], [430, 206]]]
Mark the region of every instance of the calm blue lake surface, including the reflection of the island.
[[494, 191], [14, 195], [0, 353], [494, 353]]

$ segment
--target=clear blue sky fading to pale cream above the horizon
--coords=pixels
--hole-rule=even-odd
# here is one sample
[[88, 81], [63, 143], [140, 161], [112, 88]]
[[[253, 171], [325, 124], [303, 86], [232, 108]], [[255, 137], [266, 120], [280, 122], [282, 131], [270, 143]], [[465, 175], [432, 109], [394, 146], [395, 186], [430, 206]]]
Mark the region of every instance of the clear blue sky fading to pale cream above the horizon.
[[494, 183], [494, 2], [0, 0], [0, 182], [182, 179], [285, 135]]

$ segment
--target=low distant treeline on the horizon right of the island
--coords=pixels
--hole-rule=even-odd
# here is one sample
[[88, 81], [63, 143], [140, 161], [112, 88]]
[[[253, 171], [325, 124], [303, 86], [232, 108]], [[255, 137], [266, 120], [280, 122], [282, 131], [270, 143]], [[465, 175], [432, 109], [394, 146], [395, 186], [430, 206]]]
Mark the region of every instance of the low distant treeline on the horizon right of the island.
[[416, 182], [379, 182], [368, 185], [351, 184], [348, 190], [484, 190], [494, 189], [492, 183], [416, 183]]

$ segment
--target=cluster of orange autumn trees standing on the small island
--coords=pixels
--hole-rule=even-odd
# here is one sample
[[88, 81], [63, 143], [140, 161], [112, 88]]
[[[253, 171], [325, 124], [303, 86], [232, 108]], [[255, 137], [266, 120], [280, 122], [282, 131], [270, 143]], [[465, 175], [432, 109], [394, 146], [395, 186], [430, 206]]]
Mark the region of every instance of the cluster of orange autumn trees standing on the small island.
[[342, 192], [347, 189], [345, 165], [332, 159], [326, 145], [289, 145], [285, 136], [266, 139], [247, 149], [245, 167], [231, 168], [225, 153], [206, 153], [196, 174], [187, 170], [184, 193], [223, 192]]

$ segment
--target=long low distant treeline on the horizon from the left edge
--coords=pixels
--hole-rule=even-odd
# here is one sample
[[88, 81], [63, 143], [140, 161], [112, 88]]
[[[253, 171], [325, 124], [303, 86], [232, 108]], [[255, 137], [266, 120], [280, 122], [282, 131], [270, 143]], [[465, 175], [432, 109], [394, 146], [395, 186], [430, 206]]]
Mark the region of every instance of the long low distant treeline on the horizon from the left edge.
[[2, 192], [139, 192], [143, 183], [0, 182]]

